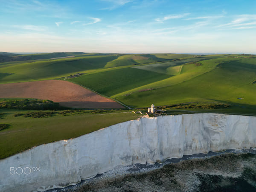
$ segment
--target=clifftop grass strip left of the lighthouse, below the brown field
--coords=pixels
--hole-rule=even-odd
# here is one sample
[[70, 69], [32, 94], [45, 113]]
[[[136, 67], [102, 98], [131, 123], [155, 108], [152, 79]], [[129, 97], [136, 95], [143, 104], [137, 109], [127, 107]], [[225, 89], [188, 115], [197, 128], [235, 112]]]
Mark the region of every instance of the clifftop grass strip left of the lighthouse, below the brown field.
[[[4, 113], [0, 124], [9, 128], [0, 131], [0, 159], [44, 143], [66, 140], [114, 125], [137, 119], [138, 114], [128, 111], [103, 111], [93, 113], [68, 113], [67, 116], [54, 111], [51, 117], [32, 118], [17, 116], [19, 113], [34, 113], [35, 111], [0, 109]], [[52, 111], [44, 111], [52, 112]]]

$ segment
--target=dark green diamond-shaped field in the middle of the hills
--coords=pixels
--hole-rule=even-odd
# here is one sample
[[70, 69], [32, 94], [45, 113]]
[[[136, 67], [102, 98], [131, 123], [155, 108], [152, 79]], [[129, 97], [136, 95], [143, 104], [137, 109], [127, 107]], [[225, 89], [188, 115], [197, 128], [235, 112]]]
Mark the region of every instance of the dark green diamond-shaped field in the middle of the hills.
[[165, 74], [126, 67], [83, 75], [75, 79], [69, 79], [69, 81], [81, 84], [105, 96], [112, 96], [169, 77]]

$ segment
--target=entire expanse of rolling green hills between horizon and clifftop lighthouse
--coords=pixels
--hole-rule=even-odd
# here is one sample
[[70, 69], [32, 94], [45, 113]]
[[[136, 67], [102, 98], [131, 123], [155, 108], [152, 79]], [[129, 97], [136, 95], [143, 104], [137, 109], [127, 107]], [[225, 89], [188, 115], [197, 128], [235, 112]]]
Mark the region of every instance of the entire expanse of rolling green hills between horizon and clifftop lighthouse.
[[[73, 58], [1, 63], [0, 83], [56, 79], [84, 73], [66, 80], [133, 107], [199, 101], [256, 105], [255, 55], [76, 52], [48, 56], [75, 54]], [[47, 54], [35, 54], [34, 57], [38, 55]]]

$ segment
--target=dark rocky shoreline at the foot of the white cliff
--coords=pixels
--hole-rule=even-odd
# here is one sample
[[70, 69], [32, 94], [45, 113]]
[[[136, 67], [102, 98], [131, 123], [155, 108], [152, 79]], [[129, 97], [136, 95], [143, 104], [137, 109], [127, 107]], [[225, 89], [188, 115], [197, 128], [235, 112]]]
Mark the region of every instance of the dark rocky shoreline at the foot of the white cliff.
[[184, 155], [163, 163], [117, 166], [80, 183], [47, 192], [256, 191], [256, 149]]

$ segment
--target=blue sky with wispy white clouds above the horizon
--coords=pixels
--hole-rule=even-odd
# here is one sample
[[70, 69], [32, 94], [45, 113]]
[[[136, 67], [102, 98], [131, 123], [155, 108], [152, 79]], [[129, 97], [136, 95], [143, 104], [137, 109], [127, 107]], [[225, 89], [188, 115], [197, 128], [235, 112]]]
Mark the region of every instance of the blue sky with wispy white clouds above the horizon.
[[256, 0], [0, 0], [0, 51], [256, 53]]

